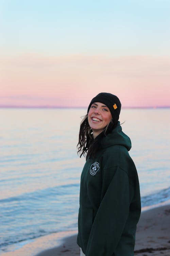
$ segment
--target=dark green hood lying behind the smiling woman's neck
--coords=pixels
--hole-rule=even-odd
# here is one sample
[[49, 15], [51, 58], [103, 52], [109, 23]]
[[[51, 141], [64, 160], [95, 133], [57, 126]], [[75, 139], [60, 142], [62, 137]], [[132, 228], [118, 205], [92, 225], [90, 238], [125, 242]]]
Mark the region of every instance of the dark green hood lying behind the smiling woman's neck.
[[107, 134], [106, 137], [102, 139], [101, 145], [102, 148], [120, 145], [126, 147], [128, 151], [130, 151], [132, 147], [130, 138], [124, 132], [122, 132], [120, 122], [118, 122], [117, 126], [111, 133]]

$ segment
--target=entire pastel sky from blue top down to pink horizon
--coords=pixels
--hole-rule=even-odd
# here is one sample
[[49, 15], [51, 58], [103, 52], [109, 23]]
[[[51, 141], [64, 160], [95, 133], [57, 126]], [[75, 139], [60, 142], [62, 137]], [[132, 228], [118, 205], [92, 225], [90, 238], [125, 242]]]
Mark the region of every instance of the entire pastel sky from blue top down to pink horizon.
[[169, 0], [0, 0], [0, 106], [170, 106]]

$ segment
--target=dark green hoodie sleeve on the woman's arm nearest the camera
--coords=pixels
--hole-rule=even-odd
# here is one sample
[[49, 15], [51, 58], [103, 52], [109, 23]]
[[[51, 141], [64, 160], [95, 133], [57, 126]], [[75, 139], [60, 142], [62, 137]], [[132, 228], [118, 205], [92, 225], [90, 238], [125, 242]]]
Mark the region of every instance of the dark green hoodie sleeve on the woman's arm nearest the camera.
[[[105, 169], [105, 190], [90, 232], [86, 256], [111, 256], [123, 232], [129, 215], [130, 183], [127, 173], [120, 167]], [[108, 184], [110, 173], [114, 176]]]

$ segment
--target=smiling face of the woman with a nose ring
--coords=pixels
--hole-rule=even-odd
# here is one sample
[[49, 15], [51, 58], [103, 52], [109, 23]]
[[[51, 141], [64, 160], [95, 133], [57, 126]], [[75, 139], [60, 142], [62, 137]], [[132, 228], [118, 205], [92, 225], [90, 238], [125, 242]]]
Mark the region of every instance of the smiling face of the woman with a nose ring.
[[112, 119], [109, 108], [101, 103], [92, 103], [88, 112], [88, 123], [93, 131], [94, 139], [98, 136]]

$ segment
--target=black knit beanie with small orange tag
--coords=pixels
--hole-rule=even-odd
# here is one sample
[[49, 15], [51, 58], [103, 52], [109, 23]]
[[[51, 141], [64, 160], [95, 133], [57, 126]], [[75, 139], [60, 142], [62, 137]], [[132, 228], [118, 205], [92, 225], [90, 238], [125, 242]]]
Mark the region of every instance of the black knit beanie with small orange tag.
[[113, 95], [111, 93], [99, 93], [98, 95], [96, 95], [95, 98], [93, 98], [91, 100], [91, 102], [88, 106], [87, 113], [89, 112], [91, 104], [94, 102], [104, 103], [111, 111], [114, 123], [117, 124], [117, 122], [119, 120], [121, 103], [120, 103], [119, 98], [116, 95]]

